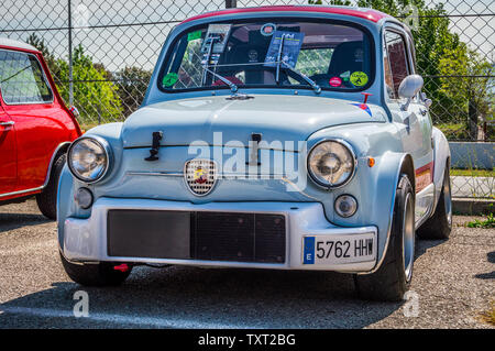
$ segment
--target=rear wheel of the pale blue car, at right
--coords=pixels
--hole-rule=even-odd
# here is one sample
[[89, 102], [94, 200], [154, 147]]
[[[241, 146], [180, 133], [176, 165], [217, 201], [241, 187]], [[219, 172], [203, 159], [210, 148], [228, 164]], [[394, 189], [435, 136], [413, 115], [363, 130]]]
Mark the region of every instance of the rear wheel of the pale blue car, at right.
[[419, 229], [418, 238], [430, 240], [449, 239], [452, 231], [452, 195], [450, 191], [449, 164], [446, 165], [440, 198], [431, 216]]

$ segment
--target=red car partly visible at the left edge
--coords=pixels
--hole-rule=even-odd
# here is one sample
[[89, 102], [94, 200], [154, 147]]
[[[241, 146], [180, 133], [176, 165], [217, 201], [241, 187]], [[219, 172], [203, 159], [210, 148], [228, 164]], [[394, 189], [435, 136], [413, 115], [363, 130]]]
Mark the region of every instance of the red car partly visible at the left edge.
[[35, 195], [55, 219], [58, 176], [80, 134], [41, 52], [0, 37], [0, 205]]

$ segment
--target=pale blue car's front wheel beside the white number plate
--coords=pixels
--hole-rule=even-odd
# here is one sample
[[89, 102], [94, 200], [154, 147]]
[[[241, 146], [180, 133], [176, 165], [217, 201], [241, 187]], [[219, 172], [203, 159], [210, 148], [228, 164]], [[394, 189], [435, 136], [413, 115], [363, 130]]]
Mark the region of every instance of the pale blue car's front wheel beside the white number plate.
[[[405, 237], [407, 234], [407, 239]], [[405, 242], [406, 249], [405, 248]], [[354, 275], [361, 298], [400, 301], [413, 279], [415, 249], [415, 195], [409, 178], [402, 175], [397, 185], [391, 239], [380, 268], [366, 275]], [[406, 267], [407, 265], [407, 267]]]

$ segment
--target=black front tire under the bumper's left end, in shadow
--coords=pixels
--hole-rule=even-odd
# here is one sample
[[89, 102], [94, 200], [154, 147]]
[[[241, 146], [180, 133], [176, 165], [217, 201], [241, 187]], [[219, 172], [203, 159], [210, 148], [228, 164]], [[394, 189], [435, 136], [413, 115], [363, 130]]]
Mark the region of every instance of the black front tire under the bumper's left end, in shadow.
[[74, 282], [85, 286], [116, 286], [122, 284], [131, 274], [132, 265], [127, 272], [116, 271], [117, 262], [100, 262], [95, 264], [75, 264], [68, 262], [61, 253], [62, 265]]

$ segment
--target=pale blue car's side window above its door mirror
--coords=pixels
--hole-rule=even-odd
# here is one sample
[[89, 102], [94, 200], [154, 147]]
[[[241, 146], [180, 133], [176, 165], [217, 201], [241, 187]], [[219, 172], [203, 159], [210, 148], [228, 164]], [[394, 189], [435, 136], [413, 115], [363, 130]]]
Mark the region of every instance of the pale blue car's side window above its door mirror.
[[397, 99], [400, 83], [409, 75], [406, 43], [400, 34], [386, 31], [385, 45], [385, 81], [391, 87], [387, 88], [391, 99]]

